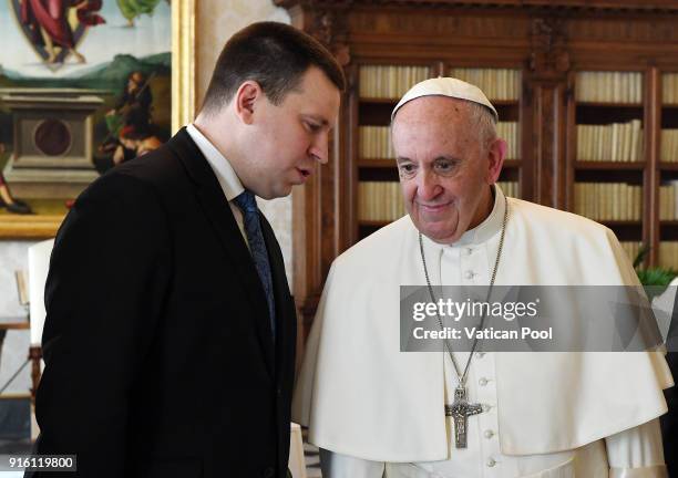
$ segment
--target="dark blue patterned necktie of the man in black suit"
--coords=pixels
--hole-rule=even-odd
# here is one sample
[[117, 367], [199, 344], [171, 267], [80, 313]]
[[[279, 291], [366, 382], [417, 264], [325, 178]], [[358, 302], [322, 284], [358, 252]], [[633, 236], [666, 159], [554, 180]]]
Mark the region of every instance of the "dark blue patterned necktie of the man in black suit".
[[237, 207], [243, 211], [245, 222], [245, 233], [249, 250], [257, 268], [257, 273], [264, 285], [266, 302], [268, 302], [268, 313], [270, 316], [270, 330], [273, 331], [274, 341], [276, 337], [276, 306], [273, 292], [273, 279], [270, 276], [270, 263], [268, 262], [268, 252], [261, 233], [261, 224], [259, 222], [259, 210], [254, 194], [245, 189], [234, 199]]

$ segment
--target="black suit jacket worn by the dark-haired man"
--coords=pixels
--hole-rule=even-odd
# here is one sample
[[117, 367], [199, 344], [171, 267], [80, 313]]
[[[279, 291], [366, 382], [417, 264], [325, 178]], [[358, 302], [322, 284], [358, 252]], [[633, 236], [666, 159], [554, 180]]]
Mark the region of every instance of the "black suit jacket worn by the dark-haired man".
[[76, 454], [82, 477], [285, 477], [296, 312], [260, 218], [275, 345], [251, 256], [185, 131], [79, 197], [47, 282], [35, 453]]

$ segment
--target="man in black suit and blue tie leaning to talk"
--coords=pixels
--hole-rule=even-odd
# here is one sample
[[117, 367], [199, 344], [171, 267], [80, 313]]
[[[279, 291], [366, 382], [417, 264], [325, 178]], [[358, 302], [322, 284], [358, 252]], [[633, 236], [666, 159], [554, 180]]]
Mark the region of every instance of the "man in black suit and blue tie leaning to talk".
[[310, 37], [253, 24], [194, 124], [80, 196], [47, 283], [37, 454], [81, 477], [285, 476], [296, 311], [255, 195], [327, 162], [343, 82]]

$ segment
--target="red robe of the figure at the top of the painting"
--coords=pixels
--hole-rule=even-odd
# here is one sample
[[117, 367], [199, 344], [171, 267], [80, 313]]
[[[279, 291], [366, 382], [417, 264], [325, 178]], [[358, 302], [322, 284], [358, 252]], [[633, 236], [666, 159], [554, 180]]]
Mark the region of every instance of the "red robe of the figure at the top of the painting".
[[69, 8], [78, 7], [78, 19], [85, 25], [104, 23], [104, 19], [96, 14], [101, 9], [101, 0], [82, 2], [79, 0], [23, 0], [21, 2], [21, 22], [28, 25], [33, 33], [33, 42], [44, 44], [40, 27], [50, 35], [52, 41], [61, 46], [74, 48], [73, 30], [68, 22]]

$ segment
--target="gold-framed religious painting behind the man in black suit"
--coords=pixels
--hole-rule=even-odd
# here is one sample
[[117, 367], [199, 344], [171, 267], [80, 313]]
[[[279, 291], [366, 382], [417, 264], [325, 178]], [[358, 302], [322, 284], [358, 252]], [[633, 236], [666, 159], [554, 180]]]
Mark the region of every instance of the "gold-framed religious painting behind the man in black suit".
[[4, 0], [0, 31], [0, 238], [49, 238], [192, 118], [195, 0]]

